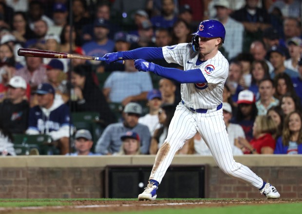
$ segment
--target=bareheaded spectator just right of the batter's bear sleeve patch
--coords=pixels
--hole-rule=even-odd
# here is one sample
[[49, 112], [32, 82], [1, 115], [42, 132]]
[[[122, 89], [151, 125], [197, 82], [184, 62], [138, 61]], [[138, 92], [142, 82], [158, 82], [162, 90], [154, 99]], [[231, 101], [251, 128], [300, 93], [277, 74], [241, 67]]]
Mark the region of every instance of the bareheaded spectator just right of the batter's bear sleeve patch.
[[238, 100], [238, 94], [244, 87], [239, 84], [241, 78], [243, 77], [243, 69], [242, 64], [239, 61], [232, 61], [229, 65], [229, 72], [227, 78], [227, 86], [229, 87], [232, 100], [236, 102]]

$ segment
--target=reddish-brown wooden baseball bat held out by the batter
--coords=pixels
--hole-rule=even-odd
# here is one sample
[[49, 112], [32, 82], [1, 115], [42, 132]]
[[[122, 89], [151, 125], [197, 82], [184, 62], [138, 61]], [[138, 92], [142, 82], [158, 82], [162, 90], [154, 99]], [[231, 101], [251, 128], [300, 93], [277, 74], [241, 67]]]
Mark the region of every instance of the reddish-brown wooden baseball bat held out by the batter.
[[[55, 58], [55, 59], [83, 59], [83, 60], [97, 60], [106, 61], [104, 57], [96, 56], [84, 56], [71, 53], [62, 53], [50, 50], [38, 50], [38, 49], [18, 49], [18, 56], [30, 56], [30, 57], [42, 57], [42, 58]], [[117, 61], [124, 64], [124, 60]]]

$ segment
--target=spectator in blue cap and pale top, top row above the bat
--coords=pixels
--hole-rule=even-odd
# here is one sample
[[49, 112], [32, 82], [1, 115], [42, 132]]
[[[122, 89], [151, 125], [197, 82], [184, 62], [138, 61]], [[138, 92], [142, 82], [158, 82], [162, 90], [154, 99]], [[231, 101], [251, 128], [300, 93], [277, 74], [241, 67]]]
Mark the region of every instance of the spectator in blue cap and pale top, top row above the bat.
[[54, 34], [59, 36], [63, 27], [67, 24], [68, 11], [66, 5], [63, 3], [54, 3], [53, 6], [53, 20], [54, 25], [49, 26], [47, 34]]

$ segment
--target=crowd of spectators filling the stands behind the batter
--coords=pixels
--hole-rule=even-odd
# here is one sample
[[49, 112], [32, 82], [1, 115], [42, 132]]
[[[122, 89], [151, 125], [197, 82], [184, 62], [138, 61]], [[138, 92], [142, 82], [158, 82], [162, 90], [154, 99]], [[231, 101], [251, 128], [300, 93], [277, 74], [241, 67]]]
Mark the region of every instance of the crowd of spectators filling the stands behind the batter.
[[[0, 154], [46, 134], [64, 155], [156, 154], [180, 84], [132, 60], [18, 56], [19, 48], [103, 57], [190, 43], [202, 20], [226, 28], [223, 116], [234, 155], [302, 154], [301, 0], [0, 0]], [[166, 61], [154, 63], [177, 67]], [[96, 112], [101, 133], [72, 113]], [[72, 142], [72, 150], [70, 150]], [[199, 134], [179, 154], [210, 155]]]

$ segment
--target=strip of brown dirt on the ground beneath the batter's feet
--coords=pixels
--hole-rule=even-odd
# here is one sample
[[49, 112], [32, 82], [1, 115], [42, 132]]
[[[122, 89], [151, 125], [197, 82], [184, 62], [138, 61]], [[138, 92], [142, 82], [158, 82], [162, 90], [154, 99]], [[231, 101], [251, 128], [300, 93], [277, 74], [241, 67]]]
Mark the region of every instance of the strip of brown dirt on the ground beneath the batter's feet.
[[269, 203], [296, 203], [302, 202], [302, 199], [226, 199], [226, 200], [161, 200], [155, 201], [137, 201], [137, 200], [119, 200], [119, 201], [94, 201], [94, 200], [73, 200], [69, 202], [71, 206], [47, 206], [47, 207], [0, 207], [0, 213], [13, 214], [18, 213], [41, 213], [41, 211], [52, 212], [79, 212], [98, 211], [98, 212], [118, 212], [118, 211], [142, 211], [159, 208], [202, 208], [202, 207], [224, 207], [235, 205], [259, 205]]

